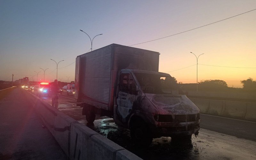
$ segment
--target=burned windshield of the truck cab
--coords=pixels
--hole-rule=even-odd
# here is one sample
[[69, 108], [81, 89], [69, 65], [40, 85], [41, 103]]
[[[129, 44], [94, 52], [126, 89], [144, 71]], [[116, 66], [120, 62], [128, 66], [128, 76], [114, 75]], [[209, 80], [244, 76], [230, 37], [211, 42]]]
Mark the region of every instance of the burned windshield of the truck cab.
[[144, 93], [172, 94], [173, 90], [177, 88], [176, 83], [172, 82], [171, 76], [146, 73], [135, 73], [135, 76]]

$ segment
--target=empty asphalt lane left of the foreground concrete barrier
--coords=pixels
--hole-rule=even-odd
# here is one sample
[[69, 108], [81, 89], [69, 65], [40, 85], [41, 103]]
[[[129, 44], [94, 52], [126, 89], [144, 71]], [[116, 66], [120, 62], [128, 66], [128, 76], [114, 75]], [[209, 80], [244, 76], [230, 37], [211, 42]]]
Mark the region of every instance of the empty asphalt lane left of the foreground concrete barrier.
[[67, 159], [22, 93], [0, 100], [0, 159]]

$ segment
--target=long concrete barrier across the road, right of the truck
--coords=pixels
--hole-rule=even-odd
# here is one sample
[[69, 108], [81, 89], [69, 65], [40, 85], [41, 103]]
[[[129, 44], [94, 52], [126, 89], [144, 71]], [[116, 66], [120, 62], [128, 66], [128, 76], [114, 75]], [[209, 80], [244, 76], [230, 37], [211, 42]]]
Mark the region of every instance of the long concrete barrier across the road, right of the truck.
[[189, 98], [201, 113], [256, 121], [256, 103]]

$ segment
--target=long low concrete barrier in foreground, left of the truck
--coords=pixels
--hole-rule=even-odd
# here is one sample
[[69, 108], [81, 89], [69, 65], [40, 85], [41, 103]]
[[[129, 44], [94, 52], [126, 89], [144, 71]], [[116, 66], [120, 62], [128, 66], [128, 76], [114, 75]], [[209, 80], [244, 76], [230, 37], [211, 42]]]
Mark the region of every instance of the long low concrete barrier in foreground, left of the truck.
[[141, 159], [106, 137], [53, 108], [34, 94], [25, 91], [28, 102], [36, 109], [69, 159]]

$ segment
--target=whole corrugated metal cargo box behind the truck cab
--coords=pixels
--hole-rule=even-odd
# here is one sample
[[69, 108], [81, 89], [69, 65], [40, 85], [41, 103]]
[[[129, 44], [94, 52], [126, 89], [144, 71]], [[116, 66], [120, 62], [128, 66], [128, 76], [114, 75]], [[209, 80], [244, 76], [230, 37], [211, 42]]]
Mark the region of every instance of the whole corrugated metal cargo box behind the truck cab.
[[158, 71], [158, 52], [119, 44], [110, 44], [80, 57], [78, 99], [106, 110], [113, 109], [117, 74], [121, 69]]

